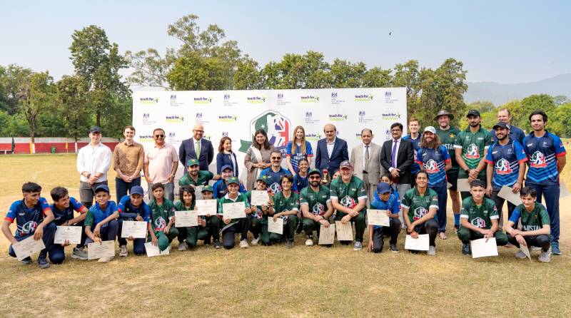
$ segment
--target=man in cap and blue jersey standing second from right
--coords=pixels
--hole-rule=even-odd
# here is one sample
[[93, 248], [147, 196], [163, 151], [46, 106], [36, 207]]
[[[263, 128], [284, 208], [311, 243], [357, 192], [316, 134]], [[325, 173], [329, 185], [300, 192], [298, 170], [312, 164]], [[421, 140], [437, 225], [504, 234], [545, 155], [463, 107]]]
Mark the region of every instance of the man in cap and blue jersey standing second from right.
[[[503, 226], [502, 210], [503, 198], [497, 194], [505, 185], [512, 188], [513, 193], [520, 193], [525, 174], [525, 162], [527, 156], [519, 141], [510, 138], [510, 125], [500, 121], [495, 124], [492, 131], [495, 135], [495, 143], [490, 145], [486, 155], [486, 193], [495, 203], [497, 213], [500, 216], [500, 230]], [[507, 218], [512, 216], [515, 205], [507, 201]]]

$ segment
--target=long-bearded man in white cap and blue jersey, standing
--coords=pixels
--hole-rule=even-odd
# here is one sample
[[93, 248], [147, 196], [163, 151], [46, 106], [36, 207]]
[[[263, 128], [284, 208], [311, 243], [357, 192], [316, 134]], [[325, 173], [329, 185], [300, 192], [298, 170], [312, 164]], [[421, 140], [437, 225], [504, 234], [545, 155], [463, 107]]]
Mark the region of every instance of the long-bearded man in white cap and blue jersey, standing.
[[438, 194], [438, 233], [440, 239], [446, 240], [446, 170], [452, 167], [448, 150], [440, 143], [433, 126], [425, 128], [418, 150], [418, 165], [428, 173], [428, 188]]

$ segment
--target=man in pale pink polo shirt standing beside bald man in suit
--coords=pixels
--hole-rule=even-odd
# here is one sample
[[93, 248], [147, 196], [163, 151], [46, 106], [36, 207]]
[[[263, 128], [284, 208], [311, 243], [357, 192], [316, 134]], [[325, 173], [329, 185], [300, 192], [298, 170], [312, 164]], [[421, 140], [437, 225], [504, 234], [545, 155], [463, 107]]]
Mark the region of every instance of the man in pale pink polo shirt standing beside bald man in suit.
[[174, 200], [174, 176], [178, 168], [178, 155], [173, 145], [165, 142], [165, 130], [156, 128], [153, 130], [155, 145], [145, 152], [144, 171], [148, 183], [148, 198], [152, 199], [151, 188], [153, 183], [161, 183], [164, 196], [168, 200]]

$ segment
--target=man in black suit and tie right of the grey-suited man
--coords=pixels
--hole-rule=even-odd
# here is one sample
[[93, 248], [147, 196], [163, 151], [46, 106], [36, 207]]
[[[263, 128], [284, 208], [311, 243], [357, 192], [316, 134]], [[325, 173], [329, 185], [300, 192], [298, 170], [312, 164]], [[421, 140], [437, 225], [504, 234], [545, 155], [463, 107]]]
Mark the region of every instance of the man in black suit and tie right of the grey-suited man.
[[[413, 164], [415, 158], [413, 143], [401, 138], [403, 136], [403, 124], [401, 123], [390, 125], [390, 135], [393, 139], [385, 141], [383, 149], [380, 150], [380, 165], [383, 165], [383, 168], [393, 176], [393, 185], [400, 198], [404, 198], [413, 181], [413, 175], [410, 173], [410, 165]], [[399, 218], [403, 222], [400, 213]]]

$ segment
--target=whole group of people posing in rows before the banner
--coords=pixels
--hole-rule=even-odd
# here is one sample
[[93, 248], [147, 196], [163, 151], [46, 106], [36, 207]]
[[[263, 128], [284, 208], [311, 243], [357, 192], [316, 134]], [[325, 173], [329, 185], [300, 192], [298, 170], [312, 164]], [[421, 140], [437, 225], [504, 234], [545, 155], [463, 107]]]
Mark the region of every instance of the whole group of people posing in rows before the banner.
[[[398, 252], [398, 235], [405, 230], [413, 238], [428, 234], [428, 255], [435, 255], [436, 238], [448, 238], [449, 194], [463, 254], [470, 255], [470, 240], [495, 237], [497, 245], [538, 247], [538, 260], [549, 262], [551, 254], [561, 254], [559, 175], [565, 166], [565, 148], [559, 137], [545, 130], [547, 115], [543, 111], [530, 114], [532, 132], [528, 135], [510, 124], [507, 109], [500, 110], [497, 117], [492, 130], [485, 130], [480, 113], [471, 110], [466, 116], [468, 128], [460, 131], [450, 126], [453, 115], [440, 111], [435, 116], [437, 128], [428, 125], [422, 133], [420, 121], [411, 118], [408, 135], [403, 136], [402, 124], [393, 123], [391, 138], [383, 145], [373, 143], [373, 130], [363, 128], [362, 143], [351, 150], [350, 158], [347, 143], [338, 138], [332, 124], [323, 128], [325, 138], [318, 140], [315, 155], [302, 126], [293, 130], [285, 153], [274, 148], [266, 131], [260, 129], [244, 158], [246, 184], [238, 179], [238, 159], [231, 138], [220, 140], [216, 173], [208, 170], [214, 151], [211, 141], [203, 138], [202, 125], [194, 126], [193, 137], [183, 140], [178, 152], [165, 142], [162, 128], [153, 131], [153, 148], [143, 149], [133, 140], [133, 126], [125, 128], [125, 140], [111, 152], [101, 143], [101, 129], [93, 127], [89, 132], [91, 143], [79, 150], [77, 158], [80, 200], [71, 198], [65, 188], [56, 187], [51, 190], [53, 204], [49, 205], [41, 197], [39, 185], [26, 183], [22, 187], [24, 198], [11, 205], [2, 232], [12, 244], [32, 235], [35, 240], [44, 240], [38, 260], [42, 268], [49, 267], [47, 257], [54, 264], [65, 259], [64, 247], [69, 244], [54, 244], [56, 225], [83, 227], [81, 243], [71, 255], [81, 260], [87, 259], [86, 244], [116, 238], [121, 257], [128, 255], [128, 241], [133, 242], [135, 255], [143, 255], [146, 241], [163, 251], [175, 238], [181, 251], [195, 247], [198, 240], [231, 249], [237, 234], [243, 248], [260, 242], [284, 242], [291, 248], [295, 235], [303, 231], [305, 245], [311, 246], [320, 228], [329, 227], [333, 221], [355, 225], [355, 240], [340, 243], [353, 243], [353, 250], [361, 250], [369, 208], [384, 210], [390, 225], [368, 226], [368, 251], [382, 252], [384, 237], [390, 237], [389, 250]], [[282, 163], [284, 157], [287, 168]], [[312, 160], [315, 168], [310, 169]], [[116, 170], [118, 203], [111, 200], [108, 188], [111, 161]], [[174, 202], [179, 161], [186, 169], [178, 180], [179, 200]], [[143, 200], [141, 171], [148, 184], [148, 203]], [[211, 185], [211, 180], [216, 182]], [[470, 191], [459, 193], [458, 180], [467, 181]], [[520, 193], [522, 200], [518, 206], [507, 202], [507, 224], [502, 224], [504, 199], [498, 195], [504, 186]], [[251, 205], [252, 190], [267, 191], [268, 202]], [[196, 210], [197, 196], [216, 199], [217, 212], [198, 217], [198, 226], [177, 227], [174, 212]], [[244, 202], [246, 217], [224, 218], [223, 206], [231, 202]], [[283, 219], [283, 235], [268, 231], [269, 218]], [[12, 235], [9, 225], [14, 220], [16, 234]], [[126, 220], [147, 222], [147, 238], [121, 237]], [[250, 242], [248, 232], [253, 237]], [[12, 247], [9, 254], [16, 256]], [[526, 257], [521, 250], [515, 256]], [[103, 257], [99, 262], [112, 259]], [[28, 257], [22, 262], [32, 261]]]

